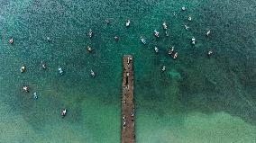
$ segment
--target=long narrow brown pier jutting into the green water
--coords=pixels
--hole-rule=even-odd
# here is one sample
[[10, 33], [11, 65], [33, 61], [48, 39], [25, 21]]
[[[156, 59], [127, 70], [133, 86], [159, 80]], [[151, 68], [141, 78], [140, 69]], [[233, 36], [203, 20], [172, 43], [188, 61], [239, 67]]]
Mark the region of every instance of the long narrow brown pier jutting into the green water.
[[123, 56], [121, 143], [135, 142], [133, 103], [133, 56]]

